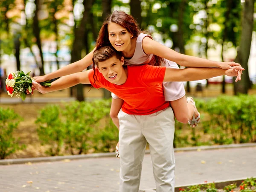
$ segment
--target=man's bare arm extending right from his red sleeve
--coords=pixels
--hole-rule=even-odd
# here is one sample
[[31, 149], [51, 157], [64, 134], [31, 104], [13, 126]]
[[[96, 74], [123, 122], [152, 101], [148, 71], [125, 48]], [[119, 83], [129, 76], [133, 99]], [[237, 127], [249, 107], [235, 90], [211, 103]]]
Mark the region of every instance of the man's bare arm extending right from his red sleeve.
[[163, 82], [166, 81], [196, 81], [217, 76], [237, 76], [236, 82], [241, 80], [241, 71], [238, 66], [223, 70], [215, 67], [190, 67], [186, 69], [166, 68]]

